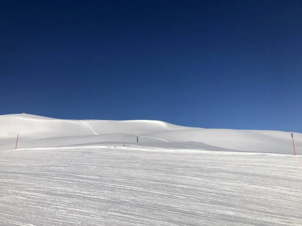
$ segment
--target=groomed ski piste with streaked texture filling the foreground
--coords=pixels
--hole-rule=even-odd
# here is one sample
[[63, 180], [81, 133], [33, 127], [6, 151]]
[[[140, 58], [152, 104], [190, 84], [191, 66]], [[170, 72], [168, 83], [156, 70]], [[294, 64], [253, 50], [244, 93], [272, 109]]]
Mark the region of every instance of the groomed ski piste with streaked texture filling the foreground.
[[116, 146], [0, 152], [0, 225], [302, 225], [301, 163]]

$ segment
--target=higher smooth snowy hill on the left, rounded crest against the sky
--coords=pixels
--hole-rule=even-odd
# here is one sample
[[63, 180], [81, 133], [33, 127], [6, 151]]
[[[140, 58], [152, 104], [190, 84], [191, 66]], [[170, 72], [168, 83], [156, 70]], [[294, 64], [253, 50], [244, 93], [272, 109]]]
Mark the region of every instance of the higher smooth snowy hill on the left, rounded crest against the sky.
[[33, 115], [0, 116], [0, 139], [91, 136], [98, 134], [144, 134], [184, 129], [172, 124], [149, 121], [58, 120]]

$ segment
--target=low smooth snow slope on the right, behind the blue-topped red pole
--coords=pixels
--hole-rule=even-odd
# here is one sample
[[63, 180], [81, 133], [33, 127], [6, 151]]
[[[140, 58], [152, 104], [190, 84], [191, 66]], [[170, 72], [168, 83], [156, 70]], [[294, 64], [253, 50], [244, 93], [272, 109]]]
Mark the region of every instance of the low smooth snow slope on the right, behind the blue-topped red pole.
[[[160, 137], [170, 142], [202, 142], [214, 147], [237, 151], [291, 154], [290, 133], [281, 131], [192, 129], [164, 131], [147, 136]], [[297, 154], [302, 154], [302, 134], [294, 133]]]

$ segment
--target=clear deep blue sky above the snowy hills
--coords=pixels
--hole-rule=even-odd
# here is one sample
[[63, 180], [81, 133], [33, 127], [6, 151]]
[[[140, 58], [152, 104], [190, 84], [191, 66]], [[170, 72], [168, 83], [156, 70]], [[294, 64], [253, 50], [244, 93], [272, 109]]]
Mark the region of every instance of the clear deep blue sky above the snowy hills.
[[301, 12], [300, 0], [2, 1], [0, 115], [302, 132]]

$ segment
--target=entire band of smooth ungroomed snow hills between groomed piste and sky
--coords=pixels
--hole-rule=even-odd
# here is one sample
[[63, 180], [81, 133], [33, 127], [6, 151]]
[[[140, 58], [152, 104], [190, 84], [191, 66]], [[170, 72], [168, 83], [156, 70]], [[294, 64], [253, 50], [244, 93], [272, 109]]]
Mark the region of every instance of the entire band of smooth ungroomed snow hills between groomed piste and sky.
[[[136, 143], [169, 148], [292, 153], [290, 133], [280, 131], [201, 129], [161, 121], [58, 120], [33, 115], [0, 116], [0, 150], [100, 143]], [[294, 134], [302, 154], [302, 134]], [[169, 143], [169, 144], [167, 144]]]

